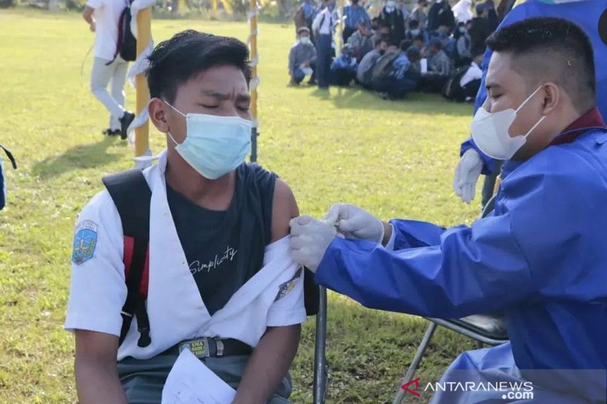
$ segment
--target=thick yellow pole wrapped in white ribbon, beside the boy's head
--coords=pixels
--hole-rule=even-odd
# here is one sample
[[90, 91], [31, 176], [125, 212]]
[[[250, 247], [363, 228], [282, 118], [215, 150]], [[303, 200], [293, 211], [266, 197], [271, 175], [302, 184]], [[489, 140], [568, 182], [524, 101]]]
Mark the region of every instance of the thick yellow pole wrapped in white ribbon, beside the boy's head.
[[[141, 55], [148, 47], [152, 39], [152, 8], [144, 8], [137, 13], [137, 56]], [[140, 113], [148, 105], [150, 92], [148, 82], [144, 73], [135, 77], [135, 88], [137, 91], [137, 110]], [[148, 122], [135, 129], [135, 156], [143, 156], [149, 150], [149, 125]]]

